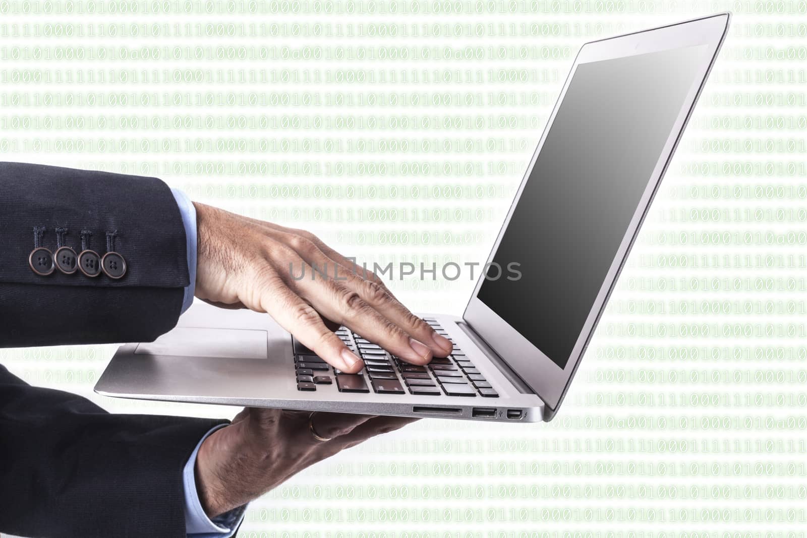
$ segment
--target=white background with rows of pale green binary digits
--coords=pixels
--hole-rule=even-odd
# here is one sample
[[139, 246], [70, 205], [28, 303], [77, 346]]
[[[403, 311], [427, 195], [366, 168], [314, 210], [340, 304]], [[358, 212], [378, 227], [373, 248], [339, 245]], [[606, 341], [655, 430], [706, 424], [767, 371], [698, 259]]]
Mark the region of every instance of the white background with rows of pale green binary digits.
[[[162, 177], [383, 265], [483, 262], [580, 44], [718, 10], [558, 418], [420, 421], [254, 502], [241, 536], [805, 536], [804, 1], [0, 1], [0, 152]], [[461, 313], [473, 282], [391, 287]], [[0, 360], [113, 411], [236, 412], [95, 396], [114, 351]]]

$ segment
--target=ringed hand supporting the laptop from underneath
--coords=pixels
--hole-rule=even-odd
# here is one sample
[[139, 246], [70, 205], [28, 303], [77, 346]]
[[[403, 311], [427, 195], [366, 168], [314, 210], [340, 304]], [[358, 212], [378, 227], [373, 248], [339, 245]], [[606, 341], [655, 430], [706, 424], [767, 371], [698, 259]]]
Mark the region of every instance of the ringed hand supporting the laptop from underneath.
[[207, 515], [231, 511], [303, 469], [417, 419], [245, 408], [204, 440], [197, 490]]

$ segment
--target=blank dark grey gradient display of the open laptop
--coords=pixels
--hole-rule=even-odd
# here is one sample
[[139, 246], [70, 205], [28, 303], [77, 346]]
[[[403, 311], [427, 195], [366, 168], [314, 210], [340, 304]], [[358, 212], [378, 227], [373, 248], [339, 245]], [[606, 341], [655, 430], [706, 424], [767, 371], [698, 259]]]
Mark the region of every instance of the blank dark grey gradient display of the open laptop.
[[[564, 368], [706, 46], [578, 65], [478, 298]], [[510, 265], [510, 264], [518, 265]], [[508, 270], [508, 265], [521, 273]]]

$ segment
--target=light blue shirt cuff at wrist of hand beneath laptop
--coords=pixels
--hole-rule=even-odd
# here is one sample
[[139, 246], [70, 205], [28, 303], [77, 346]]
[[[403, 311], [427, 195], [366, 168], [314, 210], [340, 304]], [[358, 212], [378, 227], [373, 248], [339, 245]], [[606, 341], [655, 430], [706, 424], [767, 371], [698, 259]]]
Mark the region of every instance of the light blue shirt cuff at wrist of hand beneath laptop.
[[188, 462], [185, 464], [185, 469], [182, 470], [182, 487], [185, 490], [185, 532], [193, 538], [230, 538], [235, 535], [241, 521], [244, 519], [246, 504], [243, 507], [237, 507], [210, 519], [204, 513], [202, 503], [199, 501], [199, 492], [196, 490], [194, 469], [199, 447], [202, 446], [207, 436], [225, 426], [227, 424], [220, 424], [205, 434], [194, 448], [194, 453], [190, 455]]

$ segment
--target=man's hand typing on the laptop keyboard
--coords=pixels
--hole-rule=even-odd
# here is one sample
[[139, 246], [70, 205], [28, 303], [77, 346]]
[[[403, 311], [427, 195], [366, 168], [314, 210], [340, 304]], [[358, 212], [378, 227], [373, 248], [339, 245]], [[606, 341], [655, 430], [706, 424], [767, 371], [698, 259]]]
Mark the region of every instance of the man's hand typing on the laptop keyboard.
[[197, 297], [266, 312], [345, 373], [356, 373], [364, 364], [328, 325], [345, 325], [416, 365], [451, 351], [451, 342], [408, 311], [378, 276], [313, 234], [195, 206]]

